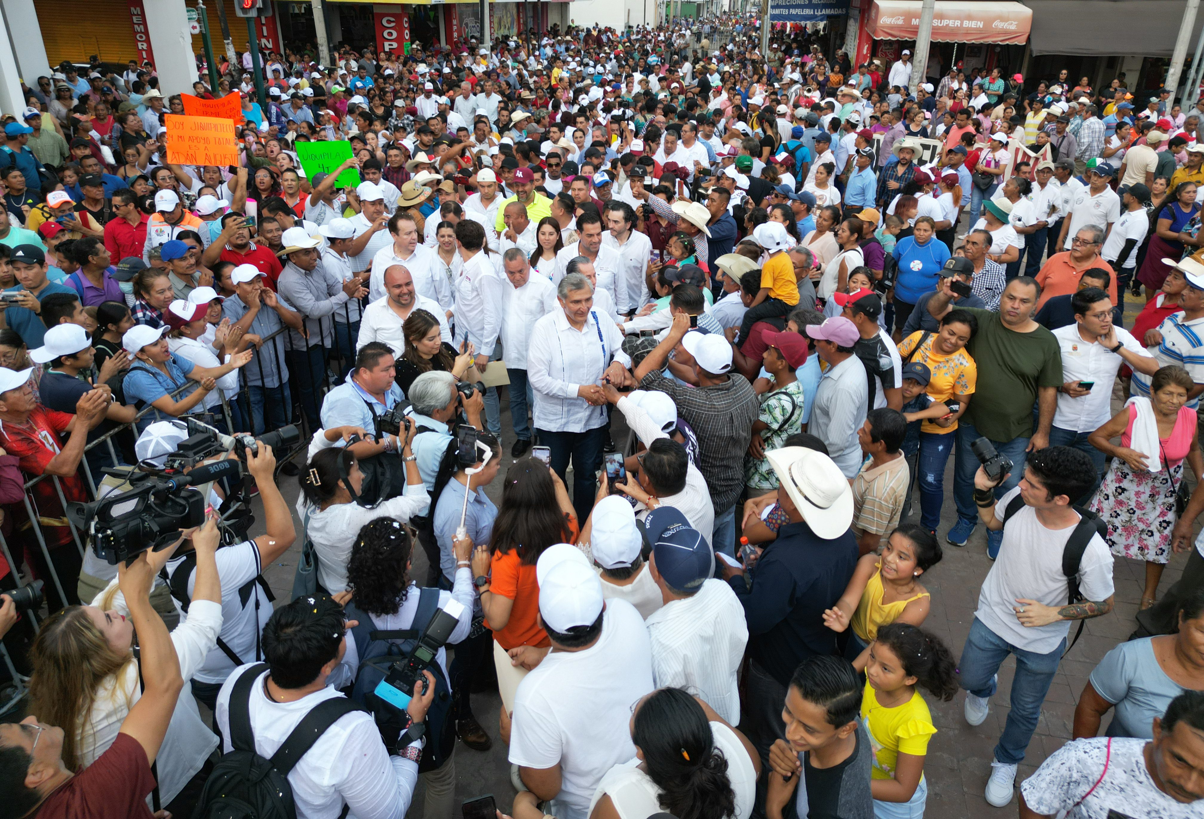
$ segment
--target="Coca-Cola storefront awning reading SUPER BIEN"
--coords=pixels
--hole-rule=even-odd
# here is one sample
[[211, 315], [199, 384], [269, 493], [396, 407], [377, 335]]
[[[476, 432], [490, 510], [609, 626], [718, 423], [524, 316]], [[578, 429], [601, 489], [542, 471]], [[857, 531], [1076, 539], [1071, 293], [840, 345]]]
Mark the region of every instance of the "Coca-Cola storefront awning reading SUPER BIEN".
[[[867, 26], [874, 40], [915, 40], [920, 30], [920, 0], [874, 0]], [[937, 0], [932, 17], [936, 42], [999, 42], [1022, 44], [1033, 22], [1031, 8], [1019, 2]]]

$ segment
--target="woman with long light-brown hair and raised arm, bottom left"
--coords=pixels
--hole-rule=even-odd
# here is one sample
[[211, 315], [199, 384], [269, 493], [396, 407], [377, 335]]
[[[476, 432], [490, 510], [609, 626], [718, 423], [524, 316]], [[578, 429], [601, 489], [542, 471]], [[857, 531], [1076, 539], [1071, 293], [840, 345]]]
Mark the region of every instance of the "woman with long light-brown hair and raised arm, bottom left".
[[[184, 682], [214, 648], [222, 629], [222, 582], [214, 559], [220, 540], [217, 517], [197, 530], [182, 532], [179, 540], [187, 538], [196, 554], [195, 599], [188, 621], [171, 631]], [[152, 569], [161, 570], [173, 551], [148, 551]], [[54, 725], [77, 726], [63, 737], [63, 762], [69, 770], [87, 768], [108, 750], [122, 720], [141, 696], [143, 669], [138, 654], [130, 649], [135, 635], [129, 616], [129, 603], [114, 577], [93, 605], [52, 615], [34, 641], [29, 710]], [[196, 700], [181, 695], [157, 760], [159, 799], [167, 809], [217, 744], [217, 736], [201, 720]], [[181, 805], [178, 812], [185, 808]]]

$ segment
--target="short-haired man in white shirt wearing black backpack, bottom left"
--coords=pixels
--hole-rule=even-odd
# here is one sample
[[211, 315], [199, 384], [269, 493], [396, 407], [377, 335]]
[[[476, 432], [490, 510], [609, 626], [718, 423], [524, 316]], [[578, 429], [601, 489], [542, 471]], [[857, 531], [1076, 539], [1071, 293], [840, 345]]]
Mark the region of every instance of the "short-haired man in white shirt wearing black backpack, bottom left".
[[[343, 805], [358, 819], [396, 819], [406, 814], [414, 796], [435, 676], [423, 672], [425, 692], [406, 707], [413, 725], [390, 755], [372, 714], [355, 708], [334, 684], [344, 676], [346, 666], [340, 666], [348, 651], [347, 629], [358, 624], [346, 619], [343, 607], [326, 595], [297, 598], [282, 606], [264, 628], [266, 666], [242, 666], [231, 673], [213, 712], [222, 750], [231, 760], [224, 758], [217, 767], [241, 764], [248, 756], [235, 750], [231, 723], [241, 723], [261, 764], [285, 744], [302, 750], [287, 773], [243, 785], [264, 794], [271, 784], [275, 793], [267, 797], [273, 801], [282, 789], [291, 791], [297, 819], [337, 817]], [[330, 700], [341, 702], [326, 705]], [[299, 725], [305, 725], [307, 736], [293, 736]], [[209, 782], [209, 787], [216, 784]], [[200, 805], [208, 807], [212, 801], [207, 788]]]

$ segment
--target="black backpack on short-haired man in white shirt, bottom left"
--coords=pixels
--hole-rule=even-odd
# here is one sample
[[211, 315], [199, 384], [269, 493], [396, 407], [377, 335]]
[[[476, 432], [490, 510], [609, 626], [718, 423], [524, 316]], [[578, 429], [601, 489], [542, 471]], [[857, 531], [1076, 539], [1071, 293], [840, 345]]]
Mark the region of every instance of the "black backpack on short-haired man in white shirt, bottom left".
[[289, 771], [343, 714], [362, 711], [344, 696], [323, 700], [297, 723], [284, 743], [264, 759], [250, 731], [250, 692], [265, 663], [242, 672], [230, 692], [230, 744], [205, 781], [193, 819], [295, 819]]

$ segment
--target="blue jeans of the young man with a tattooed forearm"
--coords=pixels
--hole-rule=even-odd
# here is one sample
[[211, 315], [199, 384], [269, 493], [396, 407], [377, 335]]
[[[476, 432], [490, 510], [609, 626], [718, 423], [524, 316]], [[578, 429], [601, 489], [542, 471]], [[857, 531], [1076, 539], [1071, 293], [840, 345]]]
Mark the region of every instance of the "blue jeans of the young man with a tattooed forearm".
[[[1011, 616], [1009, 612], [1008, 616]], [[1038, 654], [1013, 646], [984, 625], [978, 618], [970, 623], [970, 633], [962, 648], [958, 663], [957, 684], [974, 696], [991, 696], [997, 688], [995, 675], [1008, 654], [1016, 657], [1016, 675], [1011, 679], [1010, 707], [1003, 736], [995, 746], [995, 758], [1015, 765], [1025, 759], [1025, 749], [1033, 738], [1041, 704], [1054, 682], [1066, 637], [1049, 654]]]

